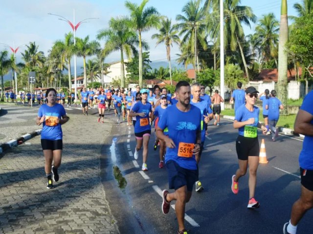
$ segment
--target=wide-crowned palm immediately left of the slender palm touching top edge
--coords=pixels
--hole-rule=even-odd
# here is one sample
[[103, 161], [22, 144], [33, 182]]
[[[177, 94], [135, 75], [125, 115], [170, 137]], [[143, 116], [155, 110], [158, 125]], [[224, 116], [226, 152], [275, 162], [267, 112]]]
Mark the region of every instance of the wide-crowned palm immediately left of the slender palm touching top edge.
[[128, 59], [136, 53], [135, 45], [139, 44], [138, 36], [130, 28], [125, 18], [111, 18], [109, 29], [101, 30], [97, 39], [106, 39], [103, 53], [110, 54], [119, 50], [121, 53], [121, 86], [125, 86], [124, 53]]

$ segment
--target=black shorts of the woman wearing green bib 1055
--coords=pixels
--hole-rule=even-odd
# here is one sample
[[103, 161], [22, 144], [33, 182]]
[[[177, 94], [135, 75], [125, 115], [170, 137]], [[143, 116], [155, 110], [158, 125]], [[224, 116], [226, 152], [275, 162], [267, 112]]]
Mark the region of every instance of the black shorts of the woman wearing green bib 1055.
[[238, 159], [248, 160], [248, 156], [259, 156], [260, 145], [258, 137], [250, 138], [239, 135], [236, 140]]

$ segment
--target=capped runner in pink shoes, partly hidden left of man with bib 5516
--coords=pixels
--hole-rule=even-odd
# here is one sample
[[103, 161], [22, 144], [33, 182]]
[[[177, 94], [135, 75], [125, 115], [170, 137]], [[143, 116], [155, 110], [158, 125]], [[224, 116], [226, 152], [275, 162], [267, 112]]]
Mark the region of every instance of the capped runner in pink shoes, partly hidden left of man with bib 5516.
[[[155, 120], [156, 118], [159, 120], [162, 115], [164, 114], [166, 108], [170, 105], [167, 104], [167, 98], [164, 94], [161, 95], [160, 97], [160, 105], [158, 105], [155, 109], [154, 112], [152, 112], [152, 115], [151, 115], [151, 119], [152, 120]], [[157, 123], [158, 121], [156, 121], [156, 127], [157, 127]], [[164, 130], [164, 134], [167, 135], [168, 133], [168, 130], [165, 129]], [[156, 137], [157, 138], [157, 137]], [[159, 158], [160, 158], [160, 162], [158, 164], [158, 167], [159, 168], [163, 168], [164, 167], [164, 161], [163, 161], [163, 157], [164, 157], [164, 154], [165, 154], [165, 149], [166, 149], [166, 145], [165, 145], [165, 142], [163, 140], [160, 140], [160, 149], [159, 149]], [[156, 149], [156, 143], [154, 145], [155, 149]]]

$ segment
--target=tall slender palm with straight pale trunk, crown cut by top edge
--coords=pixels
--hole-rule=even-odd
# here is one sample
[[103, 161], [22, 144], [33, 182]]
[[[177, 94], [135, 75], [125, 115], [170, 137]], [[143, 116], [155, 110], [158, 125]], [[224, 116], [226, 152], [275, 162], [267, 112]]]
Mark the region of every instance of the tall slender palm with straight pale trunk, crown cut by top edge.
[[156, 8], [146, 7], [149, 0], [142, 0], [140, 5], [130, 1], [125, 2], [126, 8], [131, 13], [131, 25], [138, 31], [139, 37], [139, 86], [142, 87], [142, 39], [141, 33], [149, 31], [151, 28], [156, 28], [159, 23], [159, 13]]

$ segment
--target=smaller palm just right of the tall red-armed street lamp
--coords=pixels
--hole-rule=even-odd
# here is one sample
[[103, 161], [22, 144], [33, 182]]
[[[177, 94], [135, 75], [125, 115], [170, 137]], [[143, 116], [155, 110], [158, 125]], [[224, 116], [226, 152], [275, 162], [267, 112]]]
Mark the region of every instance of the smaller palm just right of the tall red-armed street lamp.
[[76, 39], [76, 51], [77, 55], [84, 59], [84, 85], [87, 88], [87, 73], [86, 73], [86, 56], [95, 55], [100, 48], [100, 43], [96, 40], [89, 41], [89, 36], [84, 39]]

